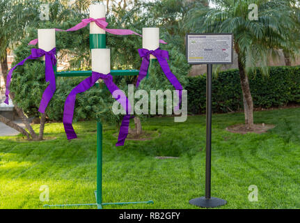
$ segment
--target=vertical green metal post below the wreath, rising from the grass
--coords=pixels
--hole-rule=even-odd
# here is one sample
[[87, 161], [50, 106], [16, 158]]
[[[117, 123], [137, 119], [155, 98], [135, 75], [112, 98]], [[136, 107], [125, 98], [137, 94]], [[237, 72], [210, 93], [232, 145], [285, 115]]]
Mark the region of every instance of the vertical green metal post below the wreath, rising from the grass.
[[97, 121], [97, 208], [102, 209], [102, 123]]

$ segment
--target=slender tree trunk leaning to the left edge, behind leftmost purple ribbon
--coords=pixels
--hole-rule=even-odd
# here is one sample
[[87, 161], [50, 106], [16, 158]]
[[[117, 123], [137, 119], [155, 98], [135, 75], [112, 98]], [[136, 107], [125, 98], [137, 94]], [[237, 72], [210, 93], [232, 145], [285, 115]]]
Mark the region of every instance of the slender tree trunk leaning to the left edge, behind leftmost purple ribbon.
[[[2, 75], [3, 75], [4, 82], [6, 83], [6, 77], [8, 74], [7, 53], [5, 53], [4, 58], [1, 59], [1, 69], [2, 69]], [[13, 93], [10, 92], [9, 96], [10, 96], [11, 100], [14, 100], [15, 96], [13, 95]], [[14, 103], [14, 105], [15, 105], [15, 110], [17, 111], [17, 114], [22, 119], [22, 123], [24, 123], [27, 130], [29, 130], [29, 133], [31, 134], [32, 139], [38, 140], [38, 135], [35, 134], [33, 128], [31, 127], [31, 125], [28, 121], [28, 118], [25, 116], [23, 110], [21, 108], [19, 108], [16, 105], [16, 103]]]

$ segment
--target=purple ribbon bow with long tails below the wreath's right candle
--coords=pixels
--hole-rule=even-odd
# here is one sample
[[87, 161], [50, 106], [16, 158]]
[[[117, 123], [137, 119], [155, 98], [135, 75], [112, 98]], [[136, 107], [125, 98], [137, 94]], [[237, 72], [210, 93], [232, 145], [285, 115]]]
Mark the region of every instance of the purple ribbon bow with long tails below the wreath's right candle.
[[173, 73], [170, 70], [170, 67], [168, 66], [168, 51], [161, 50], [160, 48], [157, 48], [155, 50], [139, 49], [139, 55], [141, 56], [141, 58], [143, 58], [143, 61], [141, 63], [139, 77], [136, 81], [136, 88], [139, 87], [141, 80], [147, 76], [150, 63], [150, 54], [157, 58], [157, 61], [159, 62], [159, 65], [161, 66], [161, 70], [164, 72], [164, 75], [166, 75], [168, 81], [171, 82], [171, 84], [177, 90], [179, 102], [178, 105], [175, 107], [175, 110], [178, 110], [182, 101], [182, 86], [178, 79], [175, 77], [175, 75], [173, 75]]

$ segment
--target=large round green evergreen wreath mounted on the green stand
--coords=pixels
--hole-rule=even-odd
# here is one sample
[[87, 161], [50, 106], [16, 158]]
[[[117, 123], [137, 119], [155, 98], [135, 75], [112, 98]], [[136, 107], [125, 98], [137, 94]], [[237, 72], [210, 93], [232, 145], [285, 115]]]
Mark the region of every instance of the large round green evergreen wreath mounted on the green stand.
[[[113, 13], [106, 17], [109, 22], [109, 28], [132, 29], [141, 33], [141, 29], [148, 24], [145, 24], [145, 17], [129, 16], [132, 12], [127, 12], [123, 8], [112, 8]], [[79, 13], [77, 10], [64, 11], [69, 13], [67, 22], [54, 21], [38, 24], [34, 28], [28, 29], [28, 37], [22, 40], [21, 45], [15, 50], [16, 61], [28, 56], [29, 49], [27, 43], [29, 40], [36, 38], [37, 29], [57, 27], [60, 29], [67, 29], [74, 26], [84, 17], [88, 17], [87, 13]], [[113, 16], [118, 15], [118, 17]], [[132, 14], [130, 14], [132, 15]], [[66, 15], [65, 15], [66, 16]], [[71, 54], [72, 60], [71, 68], [74, 70], [90, 70], [89, 44], [88, 44], [88, 29], [81, 29], [72, 33], [58, 32], [56, 33], [56, 49], [59, 55]], [[168, 45], [161, 46], [162, 49], [167, 49], [171, 54], [171, 61], [169, 62], [171, 70], [180, 79], [182, 85], [187, 82], [186, 75], [189, 69], [185, 61], [184, 53], [177, 47], [177, 38], [172, 36], [162, 29], [161, 38], [168, 42]], [[142, 39], [138, 36], [113, 36], [107, 33], [106, 45], [111, 47], [111, 66], [113, 69], [139, 69], [141, 66], [141, 58], [139, 57], [137, 49], [142, 46]], [[59, 59], [59, 58], [58, 58]], [[24, 66], [17, 68], [14, 72], [11, 90], [15, 93], [16, 100], [28, 115], [38, 114], [38, 105], [42, 92], [47, 86], [45, 84], [45, 65], [40, 61], [28, 61]], [[63, 78], [56, 79], [56, 93], [54, 98], [47, 107], [47, 116], [56, 121], [61, 121], [63, 116], [63, 104], [68, 93], [74, 86], [84, 78]], [[116, 77], [116, 84], [123, 91], [127, 92], [127, 84], [134, 84], [136, 77]], [[150, 88], [152, 86], [152, 88]], [[140, 89], [173, 89], [173, 86], [168, 83], [168, 80], [161, 72], [161, 68], [155, 64], [150, 70], [149, 79], [145, 79], [140, 86]], [[149, 93], [150, 95], [150, 93]], [[119, 124], [122, 120], [122, 115], [116, 116], [112, 112], [112, 105], [115, 100], [103, 84], [99, 88], [92, 89], [77, 95], [77, 100], [74, 110], [74, 121], [88, 120], [100, 118], [102, 121]], [[136, 119], [138, 122], [139, 119]]]

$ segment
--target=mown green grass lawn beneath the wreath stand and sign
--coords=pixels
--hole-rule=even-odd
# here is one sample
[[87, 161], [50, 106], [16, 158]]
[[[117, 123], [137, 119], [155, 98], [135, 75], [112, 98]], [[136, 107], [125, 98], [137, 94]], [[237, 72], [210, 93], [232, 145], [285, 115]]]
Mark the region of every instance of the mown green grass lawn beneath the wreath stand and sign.
[[[265, 134], [225, 130], [243, 121], [243, 114], [213, 115], [212, 197], [228, 201], [221, 208], [300, 208], [300, 109], [255, 112], [256, 123], [276, 125]], [[95, 203], [96, 123], [74, 128], [79, 139], [72, 141], [62, 123], [46, 124], [45, 137], [52, 140], [0, 137], [0, 208]], [[155, 203], [104, 208], [198, 208], [189, 199], [205, 192], [205, 116], [189, 116], [185, 123], [149, 118], [143, 129], [157, 137], [116, 148], [117, 128], [104, 125], [103, 202]], [[39, 199], [41, 185], [49, 186], [48, 202]], [[258, 202], [248, 201], [249, 185], [258, 186]]]

